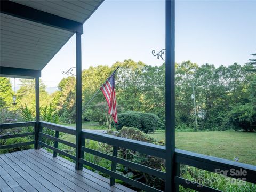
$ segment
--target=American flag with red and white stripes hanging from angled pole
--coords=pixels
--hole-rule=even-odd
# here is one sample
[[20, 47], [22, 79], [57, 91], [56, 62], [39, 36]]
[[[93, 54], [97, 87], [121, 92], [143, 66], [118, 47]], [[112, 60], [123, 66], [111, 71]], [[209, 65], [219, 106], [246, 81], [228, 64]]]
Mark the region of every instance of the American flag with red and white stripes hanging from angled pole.
[[108, 103], [108, 114], [111, 115], [117, 123], [117, 106], [116, 106], [116, 89], [115, 89], [115, 72], [100, 87], [105, 99]]

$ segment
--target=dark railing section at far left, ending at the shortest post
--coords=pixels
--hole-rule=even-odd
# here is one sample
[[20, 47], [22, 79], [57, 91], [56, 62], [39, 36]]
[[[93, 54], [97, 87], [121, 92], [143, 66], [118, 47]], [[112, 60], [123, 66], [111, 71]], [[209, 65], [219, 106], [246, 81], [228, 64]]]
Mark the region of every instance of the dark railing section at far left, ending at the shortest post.
[[11, 138], [27, 137], [27, 136], [32, 136], [33, 135], [34, 136], [33, 141], [14, 143], [14, 144], [10, 144], [10, 145], [1, 145], [0, 149], [9, 149], [9, 148], [15, 148], [15, 147], [21, 147], [21, 146], [35, 145], [35, 126], [36, 126], [36, 122], [31, 121], [31, 122], [0, 124], [0, 130], [13, 129], [13, 128], [19, 128], [19, 127], [29, 127], [29, 126], [34, 127], [34, 132], [0, 135], [0, 139], [11, 139]]

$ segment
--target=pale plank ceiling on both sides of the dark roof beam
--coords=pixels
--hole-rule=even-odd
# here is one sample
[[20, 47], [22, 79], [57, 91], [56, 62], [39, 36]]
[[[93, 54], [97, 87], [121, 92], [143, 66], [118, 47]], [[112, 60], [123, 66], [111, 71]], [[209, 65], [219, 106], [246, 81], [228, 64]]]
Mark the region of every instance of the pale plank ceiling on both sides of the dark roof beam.
[[[101, 0], [12, 0], [84, 23]], [[42, 70], [74, 32], [0, 13], [0, 66]]]

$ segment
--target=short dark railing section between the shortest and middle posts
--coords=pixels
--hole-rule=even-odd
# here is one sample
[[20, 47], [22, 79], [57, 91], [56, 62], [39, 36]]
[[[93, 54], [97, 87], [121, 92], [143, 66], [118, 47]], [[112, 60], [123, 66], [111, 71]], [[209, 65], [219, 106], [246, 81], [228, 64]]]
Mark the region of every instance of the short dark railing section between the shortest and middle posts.
[[[55, 137], [53, 137], [52, 135], [43, 133], [43, 127], [47, 128], [47, 129], [54, 130], [55, 131]], [[53, 157], [56, 157], [57, 153], [59, 153], [61, 155], [69, 157], [69, 158], [71, 158], [75, 161], [76, 157], [74, 155], [71, 155], [71, 154], [69, 154], [69, 153], [67, 153], [63, 150], [58, 149], [59, 142], [63, 143], [64, 145], [67, 145], [69, 147], [76, 148], [76, 144], [65, 141], [65, 140], [62, 140], [62, 139], [59, 139], [59, 133], [60, 132], [71, 134], [71, 135], [76, 135], [76, 130], [73, 127], [68, 127], [68, 126], [58, 125], [58, 124], [55, 124], [55, 123], [40, 121], [39, 122], [38, 145], [46, 147], [50, 150], [53, 150]], [[50, 146], [47, 143], [43, 142], [42, 141], [43, 137], [54, 141], [54, 146]]]

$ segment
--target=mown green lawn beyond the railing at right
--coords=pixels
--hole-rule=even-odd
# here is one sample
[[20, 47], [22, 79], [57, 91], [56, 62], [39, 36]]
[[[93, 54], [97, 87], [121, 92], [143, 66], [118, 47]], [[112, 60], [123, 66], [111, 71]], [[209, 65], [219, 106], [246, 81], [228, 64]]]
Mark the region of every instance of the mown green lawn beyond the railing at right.
[[[149, 134], [165, 141], [165, 132]], [[178, 149], [256, 165], [256, 133], [235, 131], [177, 132], [175, 146]]]

